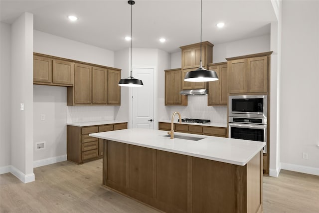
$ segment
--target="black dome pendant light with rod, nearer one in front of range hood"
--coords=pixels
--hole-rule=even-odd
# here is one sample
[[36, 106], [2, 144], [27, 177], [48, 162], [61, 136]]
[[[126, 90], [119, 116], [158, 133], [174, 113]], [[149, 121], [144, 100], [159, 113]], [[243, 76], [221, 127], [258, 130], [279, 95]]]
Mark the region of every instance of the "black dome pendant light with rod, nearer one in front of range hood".
[[200, 0], [200, 64], [198, 69], [186, 73], [184, 77], [184, 81], [206, 82], [206, 81], [218, 80], [217, 73], [213, 70], [207, 70], [203, 68], [202, 62], [201, 62], [201, 10], [202, 10], [201, 4], [202, 3]]

